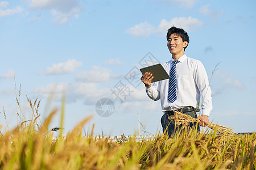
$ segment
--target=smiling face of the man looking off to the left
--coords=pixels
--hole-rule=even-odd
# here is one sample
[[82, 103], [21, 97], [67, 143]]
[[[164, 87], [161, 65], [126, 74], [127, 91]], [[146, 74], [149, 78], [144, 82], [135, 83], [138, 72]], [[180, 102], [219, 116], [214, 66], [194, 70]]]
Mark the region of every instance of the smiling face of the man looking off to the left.
[[187, 41], [181, 39], [180, 36], [177, 36], [175, 33], [172, 33], [168, 39], [167, 46], [171, 54], [181, 55], [184, 54], [184, 48], [188, 45]]

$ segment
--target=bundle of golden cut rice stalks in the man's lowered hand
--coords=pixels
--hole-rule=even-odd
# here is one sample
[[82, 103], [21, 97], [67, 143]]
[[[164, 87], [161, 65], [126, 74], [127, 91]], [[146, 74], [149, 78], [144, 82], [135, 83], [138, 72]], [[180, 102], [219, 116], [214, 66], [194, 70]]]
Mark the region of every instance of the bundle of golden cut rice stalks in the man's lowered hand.
[[[180, 112], [174, 111], [174, 115], [168, 117], [169, 119], [175, 120], [175, 126], [179, 127], [180, 125], [188, 126], [190, 122], [197, 122], [196, 118], [193, 118], [187, 114], [183, 114]], [[199, 122], [199, 120], [198, 120]], [[226, 134], [226, 135], [236, 135], [232, 128], [228, 126], [222, 126], [218, 124], [213, 124], [212, 122], [209, 122], [207, 125], [210, 129], [213, 129], [217, 131], [218, 134]]]

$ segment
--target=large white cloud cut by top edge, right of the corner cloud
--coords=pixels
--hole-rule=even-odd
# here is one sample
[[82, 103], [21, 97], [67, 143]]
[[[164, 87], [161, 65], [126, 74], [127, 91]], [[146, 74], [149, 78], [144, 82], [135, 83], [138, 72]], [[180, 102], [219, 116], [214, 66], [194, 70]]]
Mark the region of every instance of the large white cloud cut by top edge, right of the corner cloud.
[[53, 16], [53, 23], [60, 25], [71, 18], [78, 18], [82, 10], [79, 0], [29, 0], [30, 7], [48, 9]]

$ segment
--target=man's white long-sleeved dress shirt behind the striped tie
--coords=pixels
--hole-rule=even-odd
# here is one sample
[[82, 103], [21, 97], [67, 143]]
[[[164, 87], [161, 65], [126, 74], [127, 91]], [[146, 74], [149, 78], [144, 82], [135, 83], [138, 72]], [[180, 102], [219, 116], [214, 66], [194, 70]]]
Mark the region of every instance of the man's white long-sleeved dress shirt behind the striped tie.
[[[201, 114], [209, 116], [210, 111], [212, 111], [212, 91], [203, 63], [197, 59], [189, 58], [185, 54], [178, 60], [179, 62], [176, 64], [177, 100], [171, 103], [167, 99], [169, 79], [155, 82], [150, 88], [146, 88], [148, 97], [152, 100], [160, 99], [162, 111], [166, 112], [189, 106], [198, 108], [201, 96]], [[173, 59], [163, 64], [168, 74], [172, 67], [172, 61]]]

